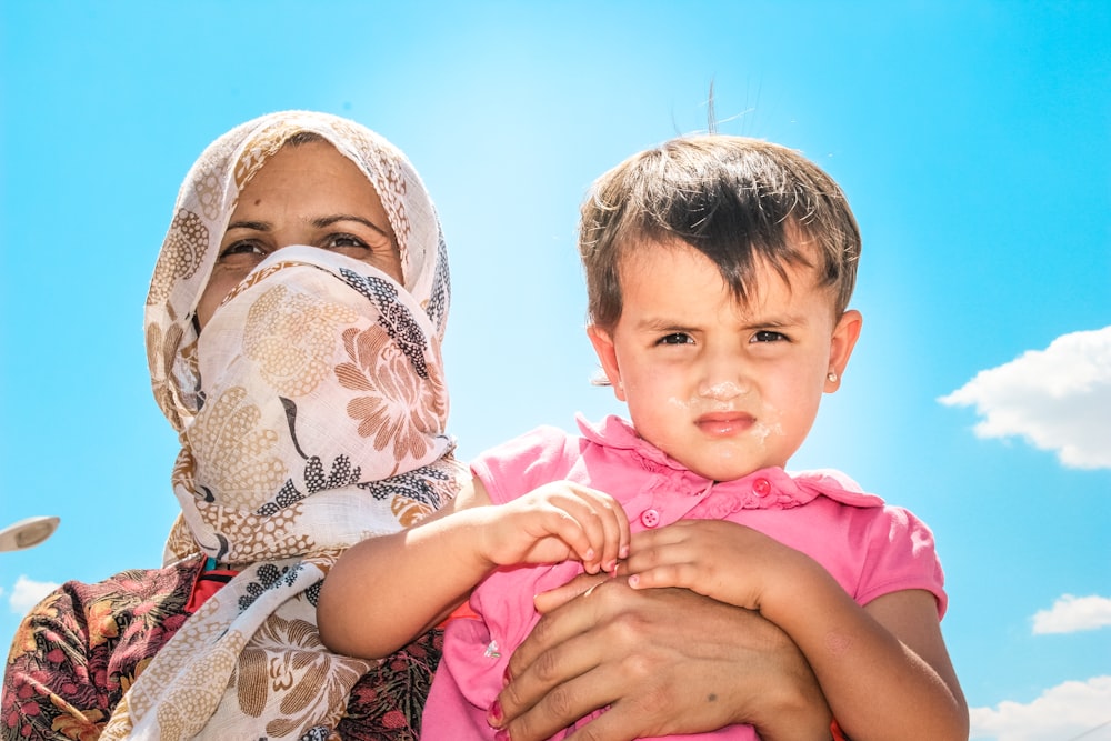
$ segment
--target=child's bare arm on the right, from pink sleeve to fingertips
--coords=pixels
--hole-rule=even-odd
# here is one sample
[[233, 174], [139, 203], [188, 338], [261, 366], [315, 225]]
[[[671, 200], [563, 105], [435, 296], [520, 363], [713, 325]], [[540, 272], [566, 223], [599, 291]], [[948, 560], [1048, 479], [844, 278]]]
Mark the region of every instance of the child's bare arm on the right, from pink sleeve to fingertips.
[[637, 588], [687, 587], [760, 610], [805, 654], [853, 741], [968, 739], [932, 594], [892, 592], [861, 608], [804, 553], [710, 520], [639, 533], [625, 567]]

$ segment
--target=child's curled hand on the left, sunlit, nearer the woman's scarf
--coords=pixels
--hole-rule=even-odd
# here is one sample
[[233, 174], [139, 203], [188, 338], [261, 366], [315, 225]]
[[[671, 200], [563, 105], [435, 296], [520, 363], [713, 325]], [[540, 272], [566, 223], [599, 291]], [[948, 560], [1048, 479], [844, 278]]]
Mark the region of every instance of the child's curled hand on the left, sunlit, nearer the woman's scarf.
[[581, 561], [614, 571], [629, 554], [629, 520], [609, 494], [556, 481], [504, 504], [480, 508], [482, 554], [494, 565]]

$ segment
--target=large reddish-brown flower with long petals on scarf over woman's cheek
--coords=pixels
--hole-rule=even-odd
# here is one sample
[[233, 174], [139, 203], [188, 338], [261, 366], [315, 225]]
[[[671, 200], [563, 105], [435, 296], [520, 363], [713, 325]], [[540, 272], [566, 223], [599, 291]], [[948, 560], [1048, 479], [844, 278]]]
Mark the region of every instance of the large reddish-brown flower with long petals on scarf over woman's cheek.
[[359, 434], [372, 437], [374, 450], [392, 448], [398, 461], [423, 457], [448, 411], [440, 364], [430, 363], [421, 383], [406, 354], [377, 324], [346, 330], [343, 349], [351, 362], [338, 364], [336, 375], [343, 388], [364, 394], [347, 407], [359, 422]]

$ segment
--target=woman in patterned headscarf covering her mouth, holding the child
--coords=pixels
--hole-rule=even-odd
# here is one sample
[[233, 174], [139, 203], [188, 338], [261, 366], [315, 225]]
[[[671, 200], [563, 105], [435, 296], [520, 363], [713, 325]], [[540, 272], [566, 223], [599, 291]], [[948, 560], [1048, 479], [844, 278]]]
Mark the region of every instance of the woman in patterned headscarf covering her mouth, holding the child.
[[[147, 301], [154, 395], [182, 445], [167, 565], [71, 582], [28, 615], [4, 677], [4, 738], [417, 738], [439, 633], [382, 662], [339, 657], [320, 644], [313, 603], [343, 548], [454, 493], [448, 303], [434, 209], [389, 142], [284, 112], [211, 144]], [[713, 645], [683, 641], [693, 610], [722, 625]], [[789, 641], [697, 597], [605, 585], [542, 624], [522, 652], [543, 658], [514, 659], [503, 703], [518, 741], [582, 714], [569, 702], [612, 703], [607, 718], [624, 722], [608, 721], [611, 739], [650, 720], [700, 730], [742, 713], [761, 725], [758, 699], [769, 715], [801, 702], [793, 718], [828, 721]], [[630, 657], [651, 670], [642, 685], [614, 671]], [[683, 691], [661, 701], [677, 678]], [[801, 725], [767, 729], [808, 738]]]

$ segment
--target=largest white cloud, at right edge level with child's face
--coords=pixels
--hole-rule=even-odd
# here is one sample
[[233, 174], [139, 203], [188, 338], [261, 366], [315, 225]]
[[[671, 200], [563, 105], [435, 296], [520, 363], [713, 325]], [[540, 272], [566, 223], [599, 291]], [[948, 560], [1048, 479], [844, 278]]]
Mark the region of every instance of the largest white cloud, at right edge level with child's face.
[[1069, 468], [1111, 468], [1111, 327], [1063, 334], [938, 401], [975, 405], [980, 438], [1017, 435]]

